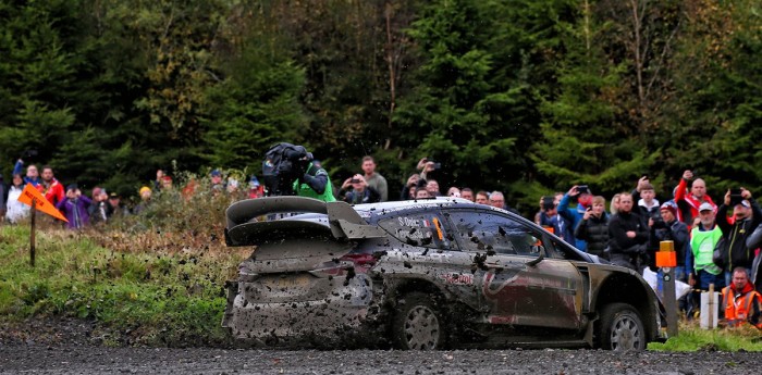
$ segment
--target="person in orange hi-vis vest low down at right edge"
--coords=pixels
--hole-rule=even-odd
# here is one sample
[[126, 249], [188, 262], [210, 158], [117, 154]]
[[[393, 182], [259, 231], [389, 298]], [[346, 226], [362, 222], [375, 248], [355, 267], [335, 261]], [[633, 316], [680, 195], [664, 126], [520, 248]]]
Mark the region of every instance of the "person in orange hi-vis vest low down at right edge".
[[725, 318], [730, 327], [747, 323], [762, 329], [762, 297], [749, 283], [749, 272], [742, 267], [733, 270], [733, 284], [723, 288]]

